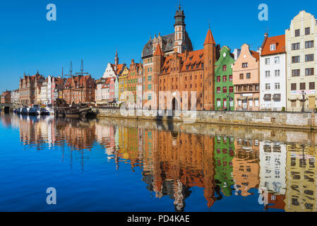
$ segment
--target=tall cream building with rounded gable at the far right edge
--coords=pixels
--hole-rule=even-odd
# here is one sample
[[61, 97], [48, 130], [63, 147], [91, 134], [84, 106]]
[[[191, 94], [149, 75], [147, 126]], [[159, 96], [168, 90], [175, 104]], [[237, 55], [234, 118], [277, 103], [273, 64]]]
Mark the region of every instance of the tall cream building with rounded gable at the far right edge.
[[300, 11], [285, 30], [287, 49], [287, 111], [316, 108], [317, 20]]

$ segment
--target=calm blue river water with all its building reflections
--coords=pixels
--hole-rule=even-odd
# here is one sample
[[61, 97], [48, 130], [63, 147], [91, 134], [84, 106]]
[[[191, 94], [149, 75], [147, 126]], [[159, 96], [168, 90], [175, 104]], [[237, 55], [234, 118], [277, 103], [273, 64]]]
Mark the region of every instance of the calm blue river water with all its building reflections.
[[[316, 211], [316, 133], [0, 115], [0, 211]], [[47, 188], [56, 189], [48, 205]]]

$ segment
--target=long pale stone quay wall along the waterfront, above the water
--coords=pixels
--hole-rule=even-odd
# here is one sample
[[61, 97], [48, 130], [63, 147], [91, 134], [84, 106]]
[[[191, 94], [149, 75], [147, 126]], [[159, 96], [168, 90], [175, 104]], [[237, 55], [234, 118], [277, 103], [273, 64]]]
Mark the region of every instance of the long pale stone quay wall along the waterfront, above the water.
[[[95, 110], [95, 109], [94, 109]], [[239, 126], [262, 126], [289, 129], [317, 130], [315, 112], [222, 112], [196, 111], [174, 112], [173, 116], [155, 117], [145, 111], [131, 110], [129, 114], [121, 114], [120, 109], [98, 108], [99, 117], [128, 119], [147, 119], [160, 121], [181, 121], [184, 124], [208, 123]], [[192, 119], [189, 114], [192, 113]]]

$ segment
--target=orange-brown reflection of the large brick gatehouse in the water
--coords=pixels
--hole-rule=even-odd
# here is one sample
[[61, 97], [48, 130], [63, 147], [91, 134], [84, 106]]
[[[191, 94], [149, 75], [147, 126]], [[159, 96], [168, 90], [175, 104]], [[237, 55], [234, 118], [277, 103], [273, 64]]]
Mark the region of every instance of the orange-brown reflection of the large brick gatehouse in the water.
[[214, 138], [172, 131], [144, 131], [143, 181], [156, 197], [174, 199], [175, 210], [185, 207], [189, 189], [198, 186], [208, 207], [215, 196], [213, 147]]

